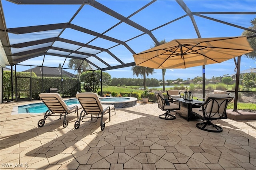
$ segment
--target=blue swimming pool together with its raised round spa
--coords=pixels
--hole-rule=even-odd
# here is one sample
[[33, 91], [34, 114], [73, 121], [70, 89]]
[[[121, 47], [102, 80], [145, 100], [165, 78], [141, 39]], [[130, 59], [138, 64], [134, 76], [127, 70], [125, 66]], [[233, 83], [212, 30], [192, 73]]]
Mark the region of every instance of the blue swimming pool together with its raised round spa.
[[[100, 98], [102, 104], [114, 105], [116, 109], [133, 107], [137, 104], [137, 98], [135, 97], [105, 97]], [[67, 105], [79, 104], [77, 99], [65, 100]], [[44, 103], [32, 103], [28, 105], [18, 106], [18, 114], [21, 113], [45, 113], [48, 110]]]

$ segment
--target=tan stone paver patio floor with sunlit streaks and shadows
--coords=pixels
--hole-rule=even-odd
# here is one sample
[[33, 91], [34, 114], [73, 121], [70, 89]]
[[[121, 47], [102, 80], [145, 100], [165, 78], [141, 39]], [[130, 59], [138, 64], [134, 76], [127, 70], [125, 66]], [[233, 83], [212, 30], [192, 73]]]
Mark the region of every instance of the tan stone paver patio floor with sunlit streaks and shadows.
[[156, 103], [116, 109], [110, 122], [104, 116], [104, 131], [99, 120], [75, 129], [75, 113], [67, 128], [62, 120], [39, 128], [43, 114], [11, 115], [13, 107], [34, 102], [0, 105], [0, 169], [256, 169], [255, 120], [222, 119], [214, 123], [223, 132], [206, 132], [196, 128], [200, 120], [159, 119]]

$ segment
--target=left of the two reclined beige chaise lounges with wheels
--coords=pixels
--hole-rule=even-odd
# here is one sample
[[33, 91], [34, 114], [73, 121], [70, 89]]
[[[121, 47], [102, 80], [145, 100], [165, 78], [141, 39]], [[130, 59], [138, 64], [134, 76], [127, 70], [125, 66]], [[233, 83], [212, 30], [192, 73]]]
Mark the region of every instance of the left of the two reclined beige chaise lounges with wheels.
[[[68, 120], [66, 120], [66, 115], [76, 112], [78, 119], [78, 105], [66, 105], [60, 94], [58, 93], [41, 93], [39, 94], [41, 101], [48, 107], [48, 110], [44, 113], [44, 119], [38, 121], [38, 127], [43, 127], [45, 120], [60, 120], [62, 116], [63, 127], [68, 126]], [[56, 117], [59, 115], [59, 119], [47, 119], [48, 117]]]

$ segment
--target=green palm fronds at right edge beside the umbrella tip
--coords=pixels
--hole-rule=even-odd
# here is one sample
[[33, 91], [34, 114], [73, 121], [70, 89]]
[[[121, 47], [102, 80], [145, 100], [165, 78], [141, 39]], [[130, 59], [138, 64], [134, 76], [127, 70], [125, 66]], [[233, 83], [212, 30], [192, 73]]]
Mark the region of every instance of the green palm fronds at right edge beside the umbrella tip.
[[[251, 20], [252, 26], [250, 26], [249, 28], [252, 30], [256, 30], [256, 18], [254, 18], [254, 20]], [[251, 32], [248, 30], [244, 30], [244, 32], [242, 33], [243, 36], [256, 36], [255, 32]], [[251, 58], [251, 59], [256, 59], [256, 37], [254, 38], [249, 38], [247, 39], [250, 46], [252, 47], [252, 49], [254, 49], [254, 51], [250, 52], [250, 53], [246, 53], [244, 54], [246, 57]]]

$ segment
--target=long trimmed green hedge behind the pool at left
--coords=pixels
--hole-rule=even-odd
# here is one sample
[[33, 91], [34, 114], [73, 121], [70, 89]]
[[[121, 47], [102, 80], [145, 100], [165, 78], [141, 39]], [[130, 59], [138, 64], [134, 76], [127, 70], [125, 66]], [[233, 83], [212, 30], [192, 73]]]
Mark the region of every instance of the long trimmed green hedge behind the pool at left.
[[[13, 74], [13, 78], [15, 75]], [[3, 72], [3, 97], [4, 101], [9, 101], [12, 88], [11, 88], [11, 72], [4, 71]], [[78, 83], [77, 78], [60, 78], [60, 77], [36, 77], [34, 73], [31, 75], [31, 85], [30, 81], [27, 81], [30, 77], [30, 73], [27, 72], [16, 72], [16, 77], [21, 77], [19, 81], [14, 83], [14, 95], [15, 97], [25, 97], [30, 98], [30, 91], [32, 100], [38, 100], [40, 93], [45, 93], [49, 88], [58, 88], [58, 93], [62, 95], [62, 97], [75, 97], [77, 91], [80, 91], [80, 83]], [[22, 77], [28, 77], [27, 79], [22, 79]], [[63, 81], [62, 81], [63, 80]], [[27, 89], [27, 90], [17, 90], [16, 94], [16, 86], [17, 89]], [[30, 89], [31, 87], [31, 89]]]

